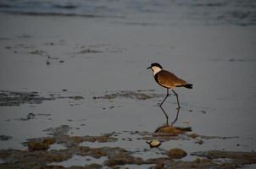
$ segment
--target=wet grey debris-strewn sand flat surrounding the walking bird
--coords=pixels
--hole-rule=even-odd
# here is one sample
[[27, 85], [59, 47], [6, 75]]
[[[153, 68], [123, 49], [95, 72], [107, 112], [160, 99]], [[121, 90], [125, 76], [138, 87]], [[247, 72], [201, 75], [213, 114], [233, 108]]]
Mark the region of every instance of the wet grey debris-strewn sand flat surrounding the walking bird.
[[[52, 168], [255, 166], [255, 26], [13, 14], [0, 22], [2, 168], [35, 165], [24, 155]], [[146, 69], [153, 62], [194, 85], [176, 90], [178, 117], [174, 95], [163, 106], [169, 124], [177, 117], [189, 131], [154, 132], [166, 118], [157, 106], [165, 90]], [[172, 159], [175, 148], [186, 156]]]

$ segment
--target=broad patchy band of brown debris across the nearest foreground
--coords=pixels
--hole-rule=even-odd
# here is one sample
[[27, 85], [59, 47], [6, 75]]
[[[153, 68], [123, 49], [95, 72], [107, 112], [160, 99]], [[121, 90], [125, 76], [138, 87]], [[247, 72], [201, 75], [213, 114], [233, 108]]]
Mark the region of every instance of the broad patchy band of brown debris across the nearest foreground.
[[[69, 126], [60, 126], [50, 129], [53, 135], [45, 138], [30, 139], [26, 143], [27, 150], [0, 150], [0, 168], [65, 168], [64, 166], [49, 165], [52, 162], [67, 161], [73, 155], [92, 156], [94, 158], [107, 157], [102, 164], [90, 164], [87, 166], [70, 166], [69, 168], [103, 168], [120, 167], [125, 165], [153, 165], [151, 168], [236, 168], [249, 164], [256, 164], [255, 152], [236, 151], [202, 151], [191, 153], [198, 156], [195, 161], [176, 161], [186, 156], [186, 151], [179, 148], [163, 151], [166, 157], [142, 159], [136, 157], [136, 151], [125, 150], [121, 147], [97, 147], [81, 146], [82, 142], [112, 142], [118, 139], [113, 134], [101, 136], [70, 136], [66, 132]], [[62, 131], [64, 129], [64, 131]], [[140, 135], [140, 133], [135, 132]], [[142, 135], [149, 134], [142, 132]], [[156, 134], [156, 133], [153, 133]], [[152, 136], [153, 137], [153, 136]], [[159, 136], [158, 136], [159, 137]], [[189, 135], [186, 135], [190, 138]], [[48, 149], [51, 144], [63, 144], [66, 149]], [[149, 151], [150, 149], [146, 149]], [[144, 150], [145, 151], [145, 150]], [[203, 157], [203, 159], [201, 159]], [[218, 159], [231, 159], [230, 161], [218, 161]], [[94, 167], [95, 166], [95, 167]]]

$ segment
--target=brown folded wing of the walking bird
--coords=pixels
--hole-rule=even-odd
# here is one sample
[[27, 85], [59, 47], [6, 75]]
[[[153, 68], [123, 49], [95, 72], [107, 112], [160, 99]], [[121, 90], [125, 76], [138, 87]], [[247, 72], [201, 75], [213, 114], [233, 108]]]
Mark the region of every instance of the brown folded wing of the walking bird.
[[186, 81], [178, 78], [175, 74], [172, 74], [166, 70], [162, 70], [159, 74], [156, 74], [156, 81], [159, 85], [166, 88], [175, 88], [177, 85], [186, 85]]

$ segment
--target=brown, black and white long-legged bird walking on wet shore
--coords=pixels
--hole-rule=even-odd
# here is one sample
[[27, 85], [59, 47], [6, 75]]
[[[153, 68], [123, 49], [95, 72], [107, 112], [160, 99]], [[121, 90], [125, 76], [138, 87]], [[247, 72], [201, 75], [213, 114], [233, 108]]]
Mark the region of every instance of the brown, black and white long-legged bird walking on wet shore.
[[162, 106], [166, 98], [170, 95], [169, 90], [175, 94], [177, 99], [178, 108], [180, 109], [180, 101], [179, 96], [175, 92], [175, 88], [185, 87], [187, 89], [192, 89], [192, 84], [188, 84], [185, 80], [178, 78], [175, 74], [170, 73], [167, 70], [164, 70], [163, 67], [159, 63], [152, 63], [150, 67], [147, 69], [151, 69], [153, 71], [153, 77], [156, 82], [162, 87], [167, 89], [167, 94], [164, 97], [164, 100], [160, 103], [159, 106]]

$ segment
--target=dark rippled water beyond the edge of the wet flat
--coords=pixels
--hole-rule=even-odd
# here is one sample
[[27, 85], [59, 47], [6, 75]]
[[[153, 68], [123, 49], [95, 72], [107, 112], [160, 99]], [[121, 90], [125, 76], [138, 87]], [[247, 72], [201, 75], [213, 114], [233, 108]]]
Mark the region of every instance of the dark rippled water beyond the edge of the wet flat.
[[254, 0], [0, 0], [0, 11], [129, 25], [256, 25]]

